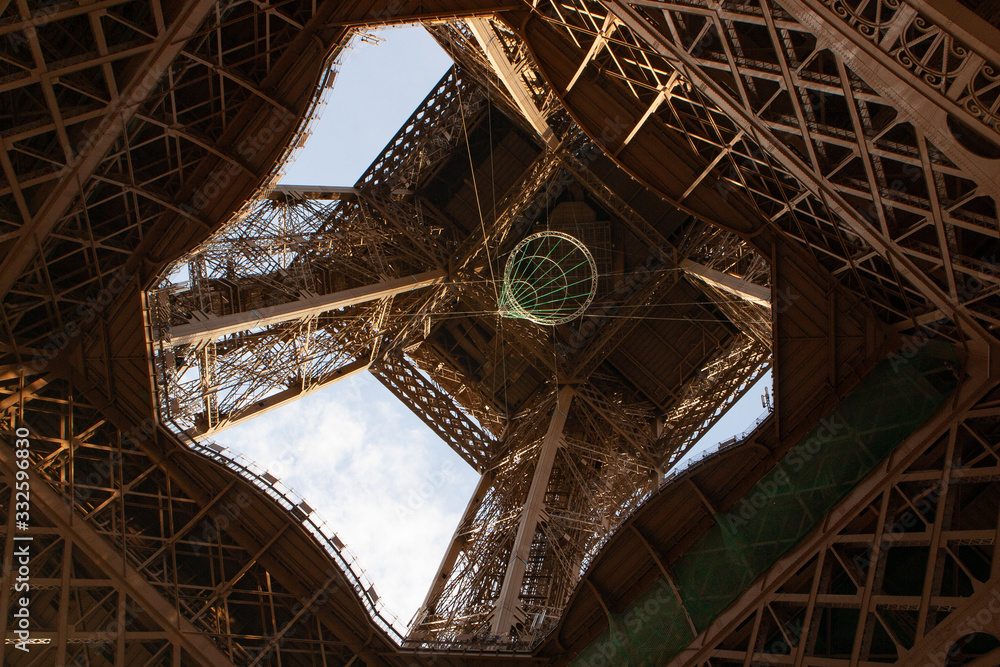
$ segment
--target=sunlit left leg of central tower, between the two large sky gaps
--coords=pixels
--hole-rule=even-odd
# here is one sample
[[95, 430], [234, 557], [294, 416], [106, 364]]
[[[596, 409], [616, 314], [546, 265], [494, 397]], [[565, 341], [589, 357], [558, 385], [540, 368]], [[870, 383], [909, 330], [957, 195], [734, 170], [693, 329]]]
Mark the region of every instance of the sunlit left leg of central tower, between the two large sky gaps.
[[[481, 104], [452, 70], [414, 114], [427, 120], [405, 125], [355, 188], [335, 200], [273, 191], [175, 262], [147, 297], [161, 414], [217, 433], [365, 370], [383, 339], [400, 343], [414, 326], [407, 293], [445, 275], [427, 272], [442, 239], [399, 193], [450, 153]], [[399, 286], [373, 291], [377, 302], [336, 298], [366, 283]]]

